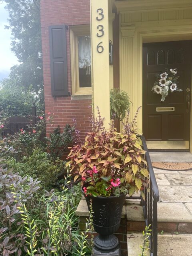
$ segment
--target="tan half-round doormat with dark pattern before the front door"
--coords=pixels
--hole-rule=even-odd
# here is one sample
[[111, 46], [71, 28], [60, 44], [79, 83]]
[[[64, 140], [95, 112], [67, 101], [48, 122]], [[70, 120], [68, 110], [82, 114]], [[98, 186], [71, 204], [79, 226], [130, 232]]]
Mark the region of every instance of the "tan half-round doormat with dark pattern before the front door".
[[192, 163], [165, 163], [165, 162], [153, 162], [154, 168], [168, 170], [168, 171], [188, 171], [192, 170]]

